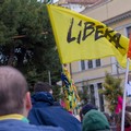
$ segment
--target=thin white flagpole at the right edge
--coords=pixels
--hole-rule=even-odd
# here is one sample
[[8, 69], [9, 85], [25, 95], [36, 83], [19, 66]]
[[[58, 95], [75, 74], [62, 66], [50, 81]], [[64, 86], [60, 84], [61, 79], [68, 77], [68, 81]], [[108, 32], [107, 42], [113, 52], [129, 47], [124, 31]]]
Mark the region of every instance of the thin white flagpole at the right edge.
[[129, 58], [127, 59], [127, 70], [126, 70], [126, 80], [124, 80], [124, 88], [123, 88], [121, 131], [124, 131], [124, 114], [126, 114], [126, 96], [127, 96], [128, 74], [129, 74]]

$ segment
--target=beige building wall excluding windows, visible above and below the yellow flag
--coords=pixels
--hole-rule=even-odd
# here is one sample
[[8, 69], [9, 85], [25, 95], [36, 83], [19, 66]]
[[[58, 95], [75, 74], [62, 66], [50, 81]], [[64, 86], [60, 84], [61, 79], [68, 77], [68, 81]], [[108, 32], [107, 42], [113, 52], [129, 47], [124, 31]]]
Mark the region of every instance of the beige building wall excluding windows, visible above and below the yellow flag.
[[[130, 8], [131, 0], [108, 0], [106, 3], [102, 3], [99, 5], [85, 9], [82, 14], [86, 16], [91, 16], [100, 22], [108, 22], [111, 19], [116, 19], [123, 13], [131, 11]], [[131, 25], [131, 16], [119, 19], [119, 21], [115, 21], [109, 23], [108, 26], [119, 32], [120, 34], [127, 37], [126, 27]], [[94, 84], [95, 88], [95, 100], [96, 106], [100, 108], [99, 96], [98, 96], [98, 83], [103, 83], [105, 80], [105, 72], [112, 74], [114, 76], [121, 78], [122, 83], [121, 86], [124, 87], [124, 72], [126, 69], [122, 69], [114, 57], [108, 57], [100, 59], [102, 66], [98, 68], [81, 70], [80, 61], [75, 61], [71, 63], [71, 73], [72, 79], [75, 85], [81, 90], [84, 85]], [[104, 106], [107, 105], [105, 102]], [[105, 108], [105, 111], [108, 111], [108, 108]]]

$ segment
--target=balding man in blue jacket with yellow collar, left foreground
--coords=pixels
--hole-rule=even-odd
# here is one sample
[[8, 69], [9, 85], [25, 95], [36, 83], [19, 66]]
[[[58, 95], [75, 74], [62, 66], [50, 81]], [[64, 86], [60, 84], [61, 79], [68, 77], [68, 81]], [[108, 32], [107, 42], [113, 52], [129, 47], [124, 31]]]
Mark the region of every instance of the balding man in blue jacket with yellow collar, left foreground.
[[63, 131], [62, 128], [32, 126], [26, 119], [32, 108], [27, 82], [11, 67], [0, 67], [0, 131]]

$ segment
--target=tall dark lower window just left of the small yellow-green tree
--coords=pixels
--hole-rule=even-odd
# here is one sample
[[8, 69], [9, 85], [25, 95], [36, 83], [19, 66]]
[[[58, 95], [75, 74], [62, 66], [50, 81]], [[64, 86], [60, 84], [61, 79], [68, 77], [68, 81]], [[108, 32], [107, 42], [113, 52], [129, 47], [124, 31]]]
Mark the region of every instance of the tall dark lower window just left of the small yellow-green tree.
[[[97, 87], [98, 90], [102, 90], [102, 83], [97, 83]], [[103, 94], [98, 94], [98, 97], [99, 97], [99, 109], [100, 111], [105, 111], [105, 108], [104, 108], [104, 95]]]

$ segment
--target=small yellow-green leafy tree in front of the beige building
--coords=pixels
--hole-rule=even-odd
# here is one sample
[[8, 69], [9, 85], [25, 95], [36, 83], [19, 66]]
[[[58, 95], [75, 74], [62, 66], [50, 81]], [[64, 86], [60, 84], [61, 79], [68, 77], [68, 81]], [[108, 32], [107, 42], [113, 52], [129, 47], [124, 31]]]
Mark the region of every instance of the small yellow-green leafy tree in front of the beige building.
[[109, 73], [106, 73], [105, 82], [103, 83], [104, 88], [99, 90], [99, 93], [105, 95], [110, 112], [115, 112], [118, 96], [122, 96], [122, 87], [120, 84], [121, 79], [114, 78]]

